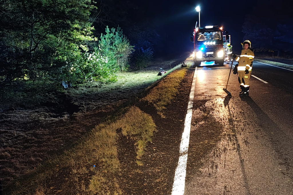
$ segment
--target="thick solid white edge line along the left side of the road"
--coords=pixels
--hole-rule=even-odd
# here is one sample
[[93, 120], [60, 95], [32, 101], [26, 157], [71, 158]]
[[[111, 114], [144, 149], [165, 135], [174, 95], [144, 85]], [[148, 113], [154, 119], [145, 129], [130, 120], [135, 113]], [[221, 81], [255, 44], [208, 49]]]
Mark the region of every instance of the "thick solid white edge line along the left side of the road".
[[188, 108], [187, 108], [187, 113], [185, 116], [184, 131], [183, 131], [181, 143], [180, 143], [179, 160], [178, 160], [178, 165], [177, 165], [175, 176], [174, 176], [172, 195], [184, 195], [186, 164], [187, 164], [196, 74], [197, 74], [197, 67], [195, 67], [195, 72], [193, 75], [192, 85], [190, 89]]

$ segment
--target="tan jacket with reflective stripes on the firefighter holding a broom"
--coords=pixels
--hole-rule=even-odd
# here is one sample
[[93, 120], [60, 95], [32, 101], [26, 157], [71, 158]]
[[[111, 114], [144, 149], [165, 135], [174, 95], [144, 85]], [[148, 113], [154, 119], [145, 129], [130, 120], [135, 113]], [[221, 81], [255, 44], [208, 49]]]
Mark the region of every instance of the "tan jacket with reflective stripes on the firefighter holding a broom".
[[245, 69], [248, 71], [252, 70], [252, 62], [254, 59], [254, 53], [251, 49], [242, 49], [240, 57], [235, 58], [239, 62], [237, 72], [245, 72]]

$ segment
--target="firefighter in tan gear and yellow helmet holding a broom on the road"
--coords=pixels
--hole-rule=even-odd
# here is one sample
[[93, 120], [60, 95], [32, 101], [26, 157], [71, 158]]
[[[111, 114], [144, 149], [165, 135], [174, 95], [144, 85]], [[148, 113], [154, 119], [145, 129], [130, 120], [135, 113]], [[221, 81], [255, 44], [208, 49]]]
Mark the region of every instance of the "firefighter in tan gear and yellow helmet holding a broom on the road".
[[235, 68], [233, 69], [233, 73], [238, 73], [238, 81], [241, 88], [239, 95], [249, 95], [249, 79], [252, 70], [254, 53], [251, 49], [251, 42], [249, 40], [243, 41], [241, 45], [243, 49], [241, 51], [240, 57], [233, 54], [233, 58], [235, 58], [235, 60], [238, 62], [238, 64], [236, 64]]

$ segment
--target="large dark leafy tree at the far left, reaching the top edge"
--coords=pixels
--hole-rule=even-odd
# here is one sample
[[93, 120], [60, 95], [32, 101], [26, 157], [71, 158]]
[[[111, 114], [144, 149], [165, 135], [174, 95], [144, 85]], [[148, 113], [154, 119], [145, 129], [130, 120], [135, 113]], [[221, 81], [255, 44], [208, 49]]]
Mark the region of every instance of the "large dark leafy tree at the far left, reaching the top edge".
[[[90, 29], [93, 8], [91, 0], [1, 1], [0, 84], [23, 81], [24, 76], [27, 81], [60, 81], [61, 75], [55, 76], [67, 58], [59, 56], [61, 48], [80, 45], [84, 37], [91, 39], [84, 34]], [[61, 59], [63, 63], [56, 63]]]

